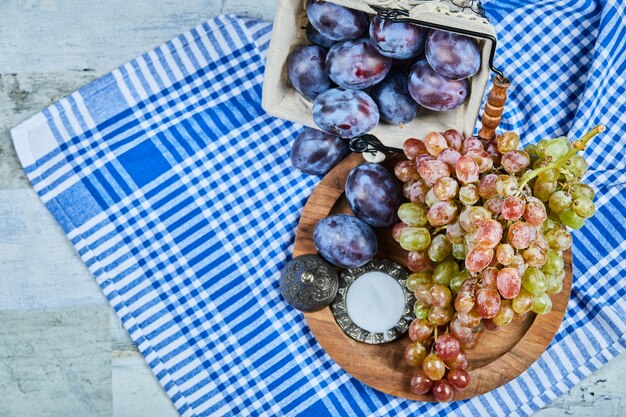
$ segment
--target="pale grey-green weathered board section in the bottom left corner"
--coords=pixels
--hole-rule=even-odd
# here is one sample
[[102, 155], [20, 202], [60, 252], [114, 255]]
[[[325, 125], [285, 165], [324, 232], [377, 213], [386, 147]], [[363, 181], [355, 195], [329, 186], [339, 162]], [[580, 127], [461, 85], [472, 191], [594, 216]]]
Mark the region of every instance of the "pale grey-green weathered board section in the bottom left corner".
[[1, 310], [0, 416], [111, 416], [108, 320], [93, 305]]

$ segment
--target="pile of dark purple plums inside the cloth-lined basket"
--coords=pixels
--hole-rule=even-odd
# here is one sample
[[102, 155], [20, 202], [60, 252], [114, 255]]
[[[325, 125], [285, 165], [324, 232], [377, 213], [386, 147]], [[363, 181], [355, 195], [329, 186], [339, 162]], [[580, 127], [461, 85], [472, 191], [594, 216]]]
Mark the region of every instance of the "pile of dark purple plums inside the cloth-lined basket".
[[408, 123], [420, 107], [459, 107], [468, 78], [480, 68], [481, 51], [470, 37], [380, 16], [370, 21], [366, 13], [319, 0], [307, 1], [306, 14], [314, 45], [291, 51], [287, 75], [314, 101], [315, 124], [333, 135], [360, 136], [379, 120]]

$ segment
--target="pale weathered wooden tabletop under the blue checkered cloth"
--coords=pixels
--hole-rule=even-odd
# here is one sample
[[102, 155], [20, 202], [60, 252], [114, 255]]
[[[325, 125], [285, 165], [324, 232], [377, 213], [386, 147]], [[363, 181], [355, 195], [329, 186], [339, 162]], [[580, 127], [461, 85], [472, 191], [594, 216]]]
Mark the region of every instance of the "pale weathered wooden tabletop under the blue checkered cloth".
[[[8, 130], [218, 13], [271, 20], [273, 0], [0, 1], [0, 416], [176, 416], [25, 179]], [[623, 416], [626, 355], [540, 417]]]

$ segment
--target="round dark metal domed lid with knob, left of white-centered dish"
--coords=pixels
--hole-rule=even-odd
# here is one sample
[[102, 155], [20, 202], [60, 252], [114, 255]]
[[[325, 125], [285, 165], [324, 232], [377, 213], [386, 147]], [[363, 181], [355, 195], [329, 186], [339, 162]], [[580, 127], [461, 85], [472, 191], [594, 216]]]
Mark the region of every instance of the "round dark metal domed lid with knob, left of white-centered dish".
[[293, 258], [280, 276], [280, 292], [285, 301], [305, 313], [328, 306], [338, 285], [335, 268], [317, 255]]

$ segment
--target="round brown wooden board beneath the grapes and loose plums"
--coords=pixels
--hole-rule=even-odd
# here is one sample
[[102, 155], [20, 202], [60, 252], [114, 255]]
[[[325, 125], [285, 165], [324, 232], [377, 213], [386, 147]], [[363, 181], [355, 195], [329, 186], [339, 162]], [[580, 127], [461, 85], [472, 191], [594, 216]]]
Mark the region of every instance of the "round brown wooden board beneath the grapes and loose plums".
[[[345, 180], [350, 170], [363, 162], [359, 154], [348, 156], [315, 188], [298, 224], [294, 257], [317, 253], [313, 228], [320, 219], [332, 213], [351, 213], [343, 197]], [[391, 238], [389, 229], [376, 232], [379, 239], [377, 256], [405, 265], [406, 251]], [[546, 350], [561, 325], [572, 289], [571, 251], [567, 251], [564, 257], [563, 291], [551, 297], [552, 311], [544, 316], [531, 313], [525, 320], [513, 322], [498, 331], [485, 330], [478, 345], [466, 351], [472, 382], [467, 390], [455, 393], [455, 401], [506, 384]], [[404, 348], [409, 343], [407, 335], [391, 343], [368, 345], [347, 336], [337, 325], [330, 307], [304, 316], [326, 353], [359, 381], [397, 397], [433, 401], [430, 395], [415, 395], [409, 390], [411, 370], [403, 361]]]

